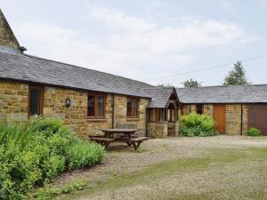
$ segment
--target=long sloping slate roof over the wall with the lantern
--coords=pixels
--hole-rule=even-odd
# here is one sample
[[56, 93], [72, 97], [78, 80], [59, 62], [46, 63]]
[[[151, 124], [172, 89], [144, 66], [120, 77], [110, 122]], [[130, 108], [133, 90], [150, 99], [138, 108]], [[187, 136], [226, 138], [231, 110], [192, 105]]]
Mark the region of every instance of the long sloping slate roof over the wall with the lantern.
[[0, 79], [49, 84], [95, 92], [150, 98], [144, 88], [154, 87], [122, 76], [81, 68], [53, 60], [0, 52]]

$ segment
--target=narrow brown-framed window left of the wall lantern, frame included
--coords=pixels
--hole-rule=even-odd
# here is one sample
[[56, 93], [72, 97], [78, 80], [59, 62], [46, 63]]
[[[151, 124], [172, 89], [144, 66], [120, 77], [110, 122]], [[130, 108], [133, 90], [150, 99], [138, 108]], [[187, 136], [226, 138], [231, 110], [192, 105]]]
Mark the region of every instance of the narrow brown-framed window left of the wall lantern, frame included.
[[43, 114], [43, 87], [28, 86], [28, 116]]

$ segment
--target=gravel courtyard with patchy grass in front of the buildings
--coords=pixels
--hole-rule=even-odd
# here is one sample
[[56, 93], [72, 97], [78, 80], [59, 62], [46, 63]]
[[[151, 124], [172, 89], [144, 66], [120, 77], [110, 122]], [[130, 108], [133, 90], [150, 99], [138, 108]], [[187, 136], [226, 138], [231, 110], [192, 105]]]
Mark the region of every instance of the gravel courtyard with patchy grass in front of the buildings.
[[267, 199], [267, 138], [149, 140], [108, 151], [104, 164], [63, 175], [84, 190], [57, 199]]

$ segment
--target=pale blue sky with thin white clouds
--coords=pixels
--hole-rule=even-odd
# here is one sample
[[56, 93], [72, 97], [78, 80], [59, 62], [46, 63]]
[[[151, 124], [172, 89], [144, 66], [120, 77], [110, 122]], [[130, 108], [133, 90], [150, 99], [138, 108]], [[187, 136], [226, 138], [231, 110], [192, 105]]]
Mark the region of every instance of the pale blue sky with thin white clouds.
[[243, 60], [248, 81], [267, 84], [267, 0], [0, 0], [0, 6], [31, 55], [174, 86], [190, 78], [223, 84]]

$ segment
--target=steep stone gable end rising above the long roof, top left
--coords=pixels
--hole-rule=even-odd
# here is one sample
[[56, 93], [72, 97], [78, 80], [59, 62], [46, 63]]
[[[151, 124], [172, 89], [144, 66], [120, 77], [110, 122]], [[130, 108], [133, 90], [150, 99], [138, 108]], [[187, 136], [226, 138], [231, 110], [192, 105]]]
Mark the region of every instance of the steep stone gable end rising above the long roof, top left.
[[26, 48], [20, 46], [0, 9], [0, 52], [22, 54], [24, 51], [26, 51]]

